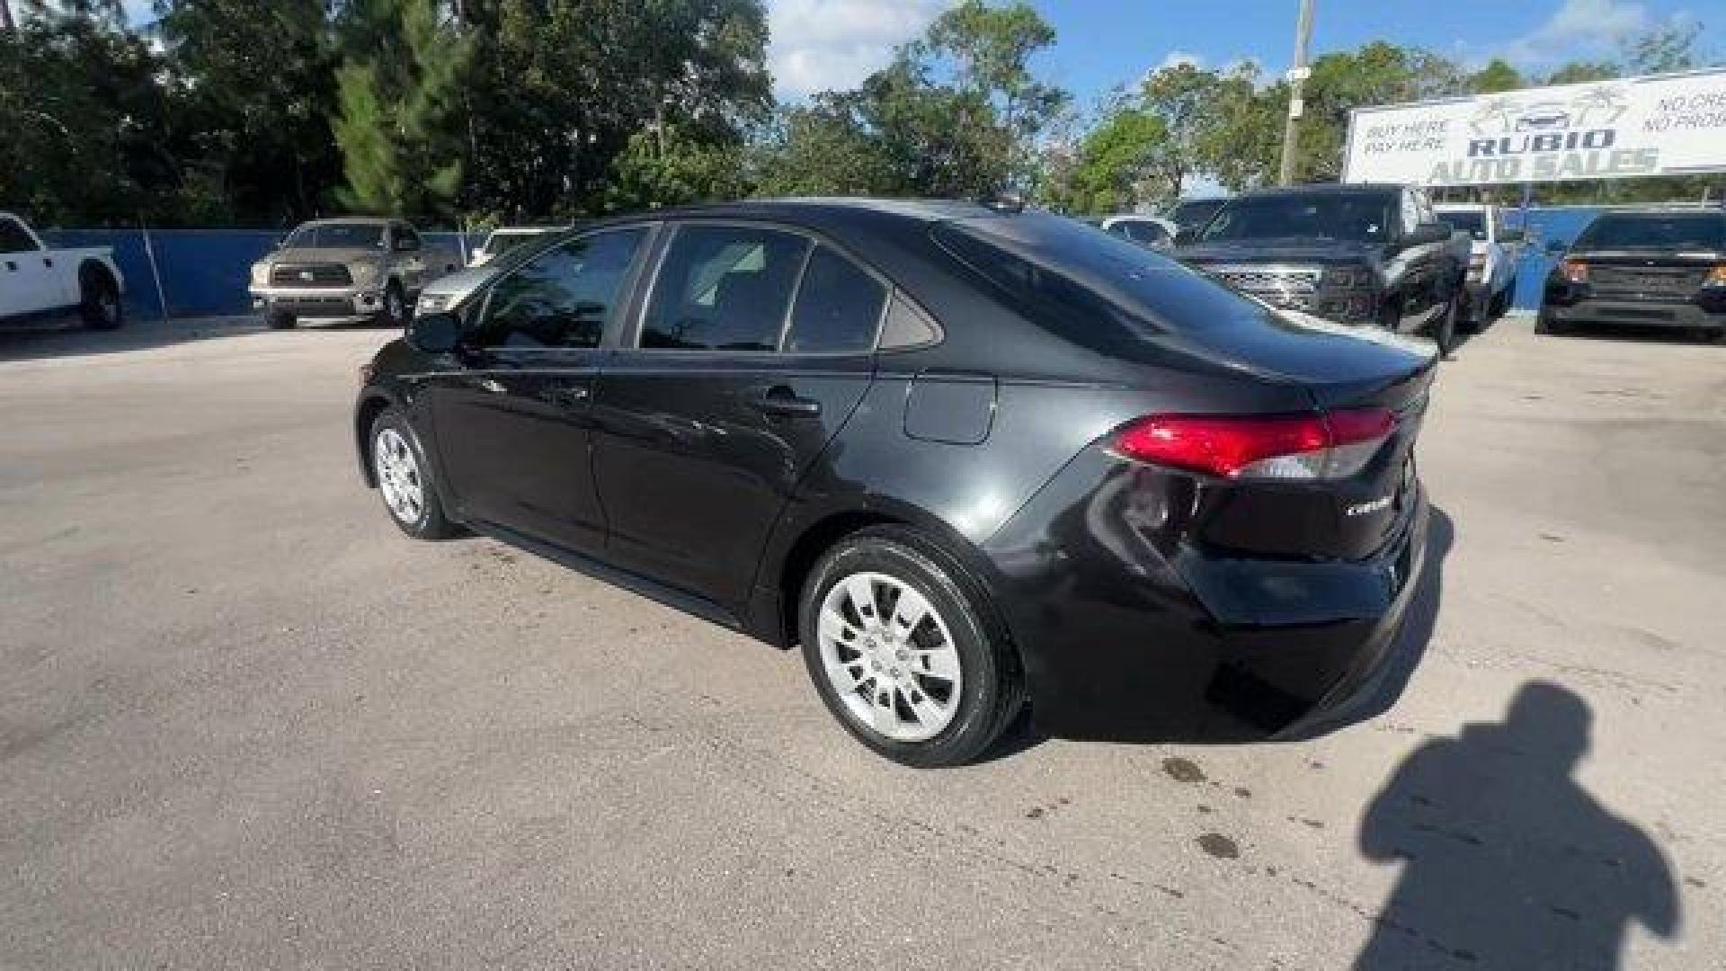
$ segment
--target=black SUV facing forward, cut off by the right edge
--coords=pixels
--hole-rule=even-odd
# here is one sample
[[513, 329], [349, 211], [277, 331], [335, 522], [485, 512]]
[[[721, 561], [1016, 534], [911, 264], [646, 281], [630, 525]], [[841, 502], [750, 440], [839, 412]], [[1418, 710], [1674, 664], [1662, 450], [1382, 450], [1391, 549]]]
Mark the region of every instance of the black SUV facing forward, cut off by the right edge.
[[1726, 339], [1726, 213], [1607, 213], [1546, 276], [1541, 333], [1586, 325]]

